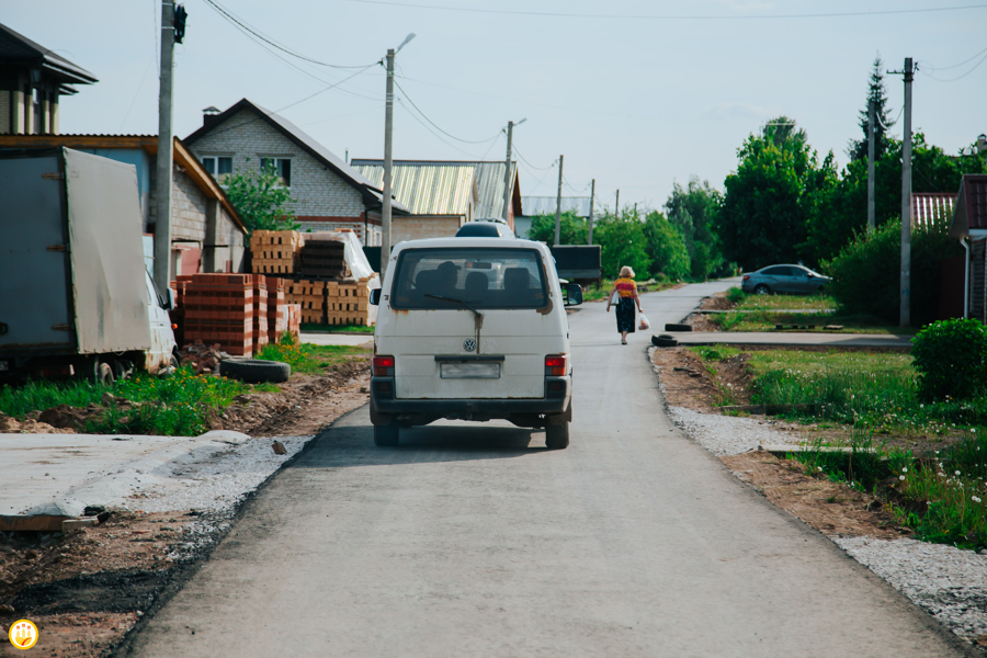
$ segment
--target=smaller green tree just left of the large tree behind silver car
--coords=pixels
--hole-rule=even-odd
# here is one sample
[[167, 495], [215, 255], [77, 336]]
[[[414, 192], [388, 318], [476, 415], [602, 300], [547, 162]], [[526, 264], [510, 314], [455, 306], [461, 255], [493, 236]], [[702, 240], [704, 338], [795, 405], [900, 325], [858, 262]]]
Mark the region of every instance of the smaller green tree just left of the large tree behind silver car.
[[714, 190], [708, 181], [700, 182], [694, 175], [690, 177], [685, 188], [673, 183], [672, 193], [665, 202], [668, 220], [678, 227], [685, 239], [691, 274], [695, 279], [723, 275], [730, 269], [714, 230], [714, 216], [722, 203], [723, 194]]

